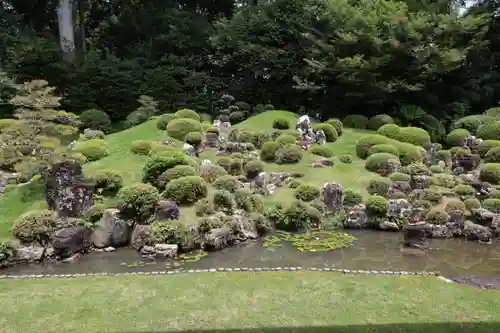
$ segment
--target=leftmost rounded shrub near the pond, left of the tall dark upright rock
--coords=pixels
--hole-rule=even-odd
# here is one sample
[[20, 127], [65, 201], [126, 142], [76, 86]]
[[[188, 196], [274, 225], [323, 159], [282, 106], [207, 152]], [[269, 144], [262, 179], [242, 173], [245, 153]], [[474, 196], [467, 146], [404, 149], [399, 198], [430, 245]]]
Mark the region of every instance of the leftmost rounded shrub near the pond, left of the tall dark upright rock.
[[54, 213], [48, 209], [33, 210], [19, 216], [12, 227], [14, 237], [25, 243], [45, 242], [58, 228]]

